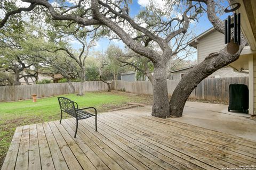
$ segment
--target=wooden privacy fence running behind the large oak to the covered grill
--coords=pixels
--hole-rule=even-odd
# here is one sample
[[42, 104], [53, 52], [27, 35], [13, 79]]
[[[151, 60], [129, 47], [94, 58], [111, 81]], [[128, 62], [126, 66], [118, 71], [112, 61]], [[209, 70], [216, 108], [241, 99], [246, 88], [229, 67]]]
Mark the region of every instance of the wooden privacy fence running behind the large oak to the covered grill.
[[[172, 95], [174, 89], [180, 80], [167, 80], [168, 93]], [[204, 79], [191, 93], [189, 98], [228, 101], [229, 84], [245, 84], [248, 86], [248, 77], [233, 77], [233, 78], [209, 78]], [[114, 83], [112, 88], [115, 89]], [[117, 90], [131, 92], [133, 94], [153, 94], [153, 87], [150, 81], [117, 81]]]

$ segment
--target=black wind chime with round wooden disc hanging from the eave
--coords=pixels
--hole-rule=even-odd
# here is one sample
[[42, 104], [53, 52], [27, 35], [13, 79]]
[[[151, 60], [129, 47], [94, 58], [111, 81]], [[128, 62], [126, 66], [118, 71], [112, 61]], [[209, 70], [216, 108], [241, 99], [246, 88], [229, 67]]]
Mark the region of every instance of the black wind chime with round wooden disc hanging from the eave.
[[[235, 6], [228, 9], [228, 7]], [[234, 12], [241, 6], [239, 3], [230, 4], [225, 8], [224, 12]], [[241, 14], [234, 13], [233, 23], [231, 23], [231, 17], [228, 15], [228, 19], [225, 20], [225, 44], [227, 45], [227, 52], [234, 55], [239, 50], [241, 44]], [[233, 38], [231, 39], [231, 28], [233, 28]]]

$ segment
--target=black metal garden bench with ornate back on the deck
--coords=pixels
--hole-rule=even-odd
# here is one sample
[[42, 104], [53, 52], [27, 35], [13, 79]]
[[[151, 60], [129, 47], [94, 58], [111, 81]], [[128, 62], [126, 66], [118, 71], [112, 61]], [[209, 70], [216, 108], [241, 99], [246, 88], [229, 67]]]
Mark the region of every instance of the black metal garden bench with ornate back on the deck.
[[[65, 112], [65, 113], [76, 118], [76, 131], [75, 131], [74, 138], [76, 138], [76, 133], [77, 133], [77, 128], [78, 128], [78, 120], [81, 120], [81, 119], [95, 116], [95, 131], [97, 131], [97, 110], [94, 107], [86, 107], [86, 108], [78, 109], [78, 104], [75, 101], [72, 101], [66, 97], [58, 97], [58, 100], [59, 100], [60, 112], [61, 112], [60, 124], [61, 124], [61, 119], [62, 119], [62, 112]], [[94, 109], [95, 114], [84, 111], [84, 110], [90, 109], [90, 108]]]

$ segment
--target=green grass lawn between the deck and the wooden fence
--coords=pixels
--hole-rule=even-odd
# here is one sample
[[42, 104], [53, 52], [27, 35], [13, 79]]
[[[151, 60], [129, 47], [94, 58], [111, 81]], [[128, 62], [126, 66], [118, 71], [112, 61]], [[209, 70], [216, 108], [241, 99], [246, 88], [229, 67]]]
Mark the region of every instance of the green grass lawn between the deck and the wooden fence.
[[[129, 102], [150, 104], [152, 97], [121, 92], [86, 92], [85, 96], [61, 95], [74, 100], [78, 107], [95, 107], [99, 113], [127, 105]], [[63, 114], [63, 118], [69, 117]], [[15, 128], [22, 125], [60, 119], [57, 96], [32, 100], [0, 103], [0, 168], [10, 146]]]

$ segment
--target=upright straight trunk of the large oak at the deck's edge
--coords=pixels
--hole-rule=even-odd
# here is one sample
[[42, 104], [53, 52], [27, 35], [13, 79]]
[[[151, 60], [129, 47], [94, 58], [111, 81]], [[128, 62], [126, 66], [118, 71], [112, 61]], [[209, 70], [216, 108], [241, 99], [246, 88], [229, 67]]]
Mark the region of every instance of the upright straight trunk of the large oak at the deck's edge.
[[152, 116], [166, 118], [169, 115], [169, 99], [166, 80], [166, 64], [154, 65]]

